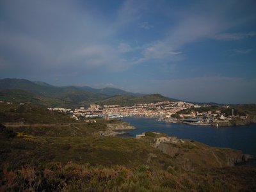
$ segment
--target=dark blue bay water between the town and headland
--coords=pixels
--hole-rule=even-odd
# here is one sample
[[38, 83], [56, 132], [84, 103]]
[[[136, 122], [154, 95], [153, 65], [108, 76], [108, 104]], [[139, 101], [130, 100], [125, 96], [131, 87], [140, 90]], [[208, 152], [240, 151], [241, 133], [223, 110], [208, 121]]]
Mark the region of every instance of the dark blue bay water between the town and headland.
[[135, 137], [146, 131], [164, 132], [180, 139], [200, 141], [214, 147], [227, 147], [242, 150], [244, 154], [256, 157], [256, 124], [239, 127], [211, 127], [200, 125], [172, 124], [159, 122], [154, 118], [127, 117], [137, 129], [128, 131], [125, 137]]

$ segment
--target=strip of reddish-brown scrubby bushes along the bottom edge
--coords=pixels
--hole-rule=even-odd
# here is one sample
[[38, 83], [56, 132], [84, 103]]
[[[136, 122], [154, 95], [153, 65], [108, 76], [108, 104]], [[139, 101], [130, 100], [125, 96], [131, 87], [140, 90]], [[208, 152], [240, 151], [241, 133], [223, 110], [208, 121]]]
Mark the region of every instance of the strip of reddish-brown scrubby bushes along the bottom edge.
[[[250, 168], [215, 172], [179, 173], [155, 171], [141, 165], [137, 169], [114, 165], [49, 163], [42, 170], [24, 166], [19, 171], [4, 168], [3, 191], [253, 191]], [[249, 184], [243, 186], [241, 183]], [[236, 186], [236, 188], [234, 188]]]

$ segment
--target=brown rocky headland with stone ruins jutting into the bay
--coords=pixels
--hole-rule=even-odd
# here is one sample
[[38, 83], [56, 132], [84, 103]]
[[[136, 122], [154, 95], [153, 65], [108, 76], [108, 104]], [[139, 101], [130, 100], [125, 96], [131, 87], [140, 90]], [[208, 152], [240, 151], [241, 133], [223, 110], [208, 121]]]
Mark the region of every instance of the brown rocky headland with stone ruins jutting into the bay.
[[179, 159], [184, 168], [191, 170], [193, 164], [200, 167], [236, 166], [255, 160], [249, 154], [232, 148], [211, 147], [194, 140], [180, 140], [159, 132], [144, 132], [136, 135], [139, 140], [150, 140], [151, 146], [170, 157]]

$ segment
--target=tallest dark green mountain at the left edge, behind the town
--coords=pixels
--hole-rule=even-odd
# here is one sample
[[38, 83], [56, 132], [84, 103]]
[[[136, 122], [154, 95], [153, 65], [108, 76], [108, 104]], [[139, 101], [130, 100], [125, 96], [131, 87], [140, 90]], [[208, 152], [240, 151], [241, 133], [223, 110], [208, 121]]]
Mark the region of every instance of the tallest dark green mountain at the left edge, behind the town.
[[31, 102], [49, 107], [81, 106], [107, 97], [75, 86], [58, 87], [26, 79], [1, 79], [0, 91], [0, 99], [4, 101]]

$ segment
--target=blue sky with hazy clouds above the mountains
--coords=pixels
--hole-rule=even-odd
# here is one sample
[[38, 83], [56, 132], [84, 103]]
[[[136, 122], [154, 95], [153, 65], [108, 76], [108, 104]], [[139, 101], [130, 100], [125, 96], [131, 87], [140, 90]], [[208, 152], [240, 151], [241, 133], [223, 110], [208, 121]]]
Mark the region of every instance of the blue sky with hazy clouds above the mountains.
[[255, 0], [0, 0], [0, 79], [256, 103]]

